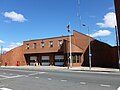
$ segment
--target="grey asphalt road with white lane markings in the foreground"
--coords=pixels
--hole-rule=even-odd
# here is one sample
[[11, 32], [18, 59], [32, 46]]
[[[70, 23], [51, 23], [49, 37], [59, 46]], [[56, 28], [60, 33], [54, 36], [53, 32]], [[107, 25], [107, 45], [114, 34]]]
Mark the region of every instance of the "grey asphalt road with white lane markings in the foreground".
[[0, 68], [0, 90], [119, 90], [120, 74]]

